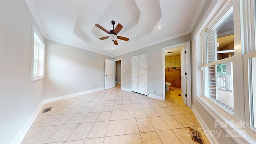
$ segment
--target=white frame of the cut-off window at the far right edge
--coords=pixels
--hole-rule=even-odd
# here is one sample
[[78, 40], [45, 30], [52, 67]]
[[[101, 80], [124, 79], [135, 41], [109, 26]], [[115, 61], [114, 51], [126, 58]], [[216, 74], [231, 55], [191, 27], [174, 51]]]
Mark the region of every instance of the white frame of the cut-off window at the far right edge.
[[[251, 127], [251, 114], [250, 114], [250, 97], [252, 96], [252, 86], [250, 77], [250, 58], [256, 57], [256, 30], [255, 30], [255, 1], [240, 1], [240, 5], [244, 8], [241, 11], [241, 16], [245, 20], [241, 22], [242, 25], [242, 43], [244, 49], [243, 62], [244, 62], [244, 98], [245, 98], [245, 120], [246, 127], [256, 134], [256, 129]], [[255, 97], [255, 96], [254, 96]], [[255, 108], [255, 106], [254, 106]], [[254, 121], [256, 116], [254, 116]], [[255, 127], [255, 126], [254, 126]]]

